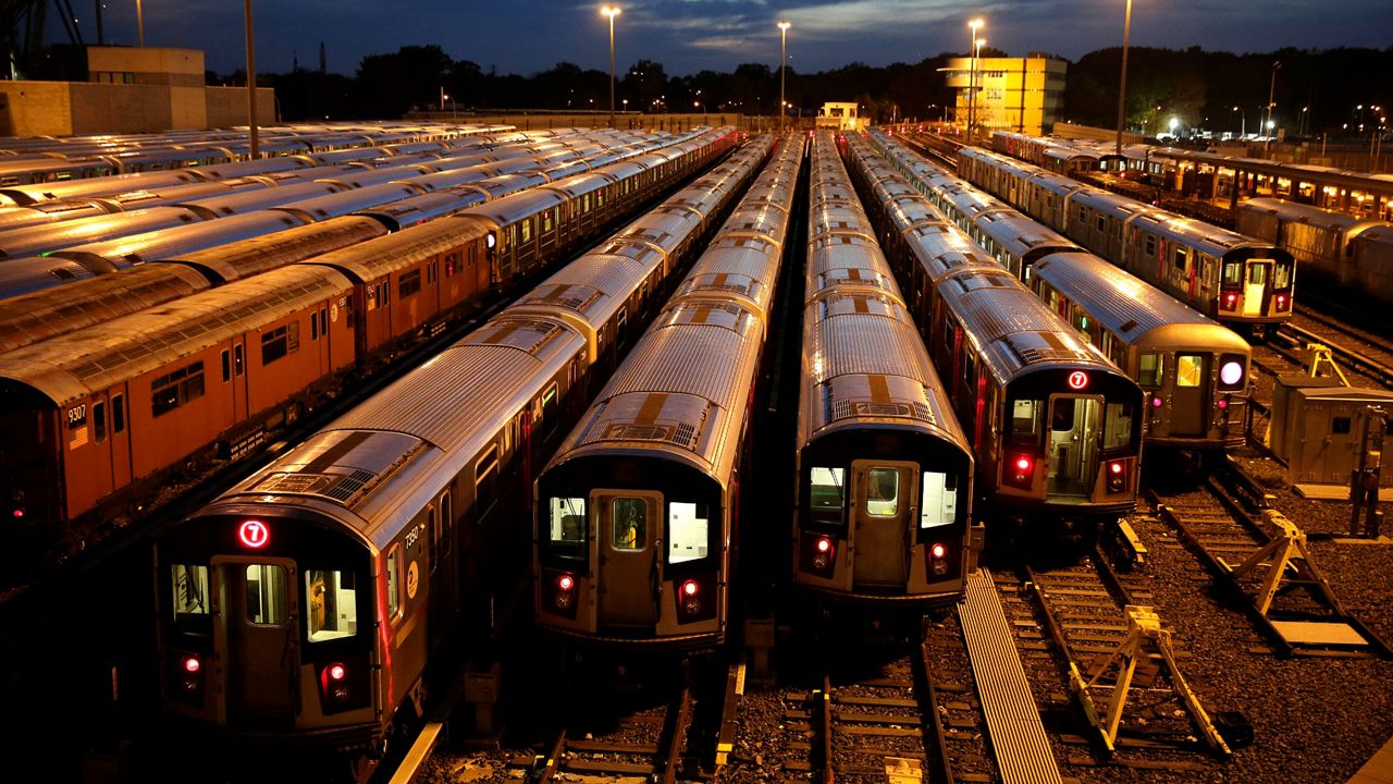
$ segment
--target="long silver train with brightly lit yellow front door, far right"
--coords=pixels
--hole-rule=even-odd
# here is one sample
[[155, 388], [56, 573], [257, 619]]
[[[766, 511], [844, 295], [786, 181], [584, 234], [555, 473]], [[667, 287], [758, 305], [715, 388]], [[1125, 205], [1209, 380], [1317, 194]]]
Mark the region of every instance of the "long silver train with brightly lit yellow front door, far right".
[[1262, 338], [1291, 318], [1295, 259], [1272, 243], [981, 148], [958, 174], [1226, 326]]

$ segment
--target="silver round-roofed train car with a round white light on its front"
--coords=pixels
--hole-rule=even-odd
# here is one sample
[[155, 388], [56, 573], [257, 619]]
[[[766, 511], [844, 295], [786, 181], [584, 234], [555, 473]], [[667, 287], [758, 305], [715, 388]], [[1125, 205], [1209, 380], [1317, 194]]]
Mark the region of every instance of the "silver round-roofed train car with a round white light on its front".
[[1148, 445], [1243, 445], [1247, 340], [1088, 252], [1036, 261], [1031, 287], [1142, 388]]

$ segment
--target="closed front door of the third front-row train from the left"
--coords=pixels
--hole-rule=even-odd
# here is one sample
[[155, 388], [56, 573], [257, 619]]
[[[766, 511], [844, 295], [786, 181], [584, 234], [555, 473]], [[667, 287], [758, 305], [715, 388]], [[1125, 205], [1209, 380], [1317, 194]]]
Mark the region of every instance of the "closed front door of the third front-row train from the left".
[[851, 583], [858, 589], [905, 587], [910, 520], [918, 498], [914, 463], [854, 460]]

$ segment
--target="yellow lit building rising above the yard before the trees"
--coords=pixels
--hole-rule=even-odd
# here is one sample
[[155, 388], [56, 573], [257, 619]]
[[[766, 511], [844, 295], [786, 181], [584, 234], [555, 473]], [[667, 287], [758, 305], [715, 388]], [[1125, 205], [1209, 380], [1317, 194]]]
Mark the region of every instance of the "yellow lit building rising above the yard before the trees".
[[[954, 57], [943, 68], [947, 85], [957, 89], [957, 121], [967, 126], [970, 57]], [[1068, 63], [1046, 54], [978, 57], [976, 127], [979, 134], [1017, 131], [1045, 135], [1064, 100]]]

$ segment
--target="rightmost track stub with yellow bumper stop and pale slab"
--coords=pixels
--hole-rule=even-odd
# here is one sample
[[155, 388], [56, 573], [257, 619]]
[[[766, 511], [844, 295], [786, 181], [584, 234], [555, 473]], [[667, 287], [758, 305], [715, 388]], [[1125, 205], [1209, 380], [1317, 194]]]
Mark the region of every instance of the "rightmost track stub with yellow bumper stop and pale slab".
[[1283, 656], [1389, 657], [1387, 644], [1344, 610], [1305, 534], [1266, 509], [1262, 488], [1231, 462], [1194, 492], [1148, 498]]

